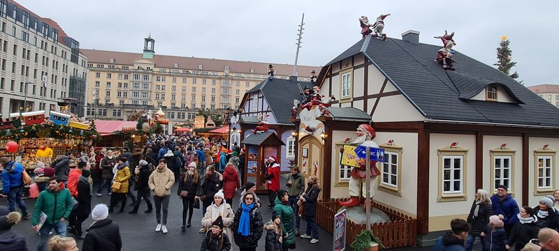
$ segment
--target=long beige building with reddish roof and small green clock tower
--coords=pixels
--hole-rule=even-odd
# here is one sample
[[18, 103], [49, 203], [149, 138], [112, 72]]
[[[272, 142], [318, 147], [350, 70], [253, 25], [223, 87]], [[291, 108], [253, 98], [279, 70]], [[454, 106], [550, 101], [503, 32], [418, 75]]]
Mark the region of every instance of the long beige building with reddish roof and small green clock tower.
[[[268, 77], [269, 63], [157, 55], [155, 40], [144, 42], [141, 54], [80, 50], [89, 69], [86, 116], [126, 119], [161, 107], [171, 121], [192, 120], [197, 109], [235, 109], [245, 91]], [[293, 65], [271, 64], [277, 78], [293, 74]], [[296, 75], [310, 81], [319, 68], [298, 66]]]

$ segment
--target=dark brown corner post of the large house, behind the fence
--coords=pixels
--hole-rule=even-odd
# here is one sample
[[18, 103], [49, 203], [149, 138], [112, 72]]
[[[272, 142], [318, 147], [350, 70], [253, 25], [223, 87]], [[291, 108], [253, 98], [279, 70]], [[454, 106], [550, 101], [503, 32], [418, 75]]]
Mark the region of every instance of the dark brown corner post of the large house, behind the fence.
[[430, 135], [426, 125], [417, 134], [417, 232], [429, 232], [429, 144]]

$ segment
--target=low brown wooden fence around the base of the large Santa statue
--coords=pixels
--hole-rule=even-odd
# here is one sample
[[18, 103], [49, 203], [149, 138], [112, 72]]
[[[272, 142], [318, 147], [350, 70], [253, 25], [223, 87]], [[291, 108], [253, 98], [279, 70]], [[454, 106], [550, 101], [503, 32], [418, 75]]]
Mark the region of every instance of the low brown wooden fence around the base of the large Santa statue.
[[[323, 199], [317, 203], [317, 224], [326, 229], [328, 233], [333, 234], [334, 215], [342, 206], [337, 201], [347, 199]], [[417, 243], [417, 220], [405, 215], [392, 208], [373, 203], [375, 208], [384, 211], [389, 215], [391, 221], [384, 223], [375, 223], [371, 225], [371, 231], [378, 236], [387, 248], [401, 248], [406, 246], [414, 246]], [[347, 220], [346, 243], [351, 244], [354, 236], [366, 229], [365, 224], [358, 225], [351, 220]]]

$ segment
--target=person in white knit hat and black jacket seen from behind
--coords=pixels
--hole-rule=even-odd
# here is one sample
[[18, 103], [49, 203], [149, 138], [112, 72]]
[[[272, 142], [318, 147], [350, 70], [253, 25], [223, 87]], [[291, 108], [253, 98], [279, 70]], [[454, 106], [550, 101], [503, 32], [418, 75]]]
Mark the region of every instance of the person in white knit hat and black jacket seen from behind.
[[122, 239], [115, 222], [107, 218], [109, 208], [106, 204], [97, 204], [92, 211], [93, 224], [87, 229], [82, 251], [121, 250]]

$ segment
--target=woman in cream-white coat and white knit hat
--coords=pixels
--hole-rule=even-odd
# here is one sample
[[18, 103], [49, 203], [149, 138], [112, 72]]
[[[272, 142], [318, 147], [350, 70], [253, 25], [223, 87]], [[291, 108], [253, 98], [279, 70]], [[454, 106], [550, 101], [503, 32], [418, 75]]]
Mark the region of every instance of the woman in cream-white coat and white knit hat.
[[210, 229], [212, 227], [212, 222], [217, 219], [218, 216], [222, 217], [223, 220], [223, 231], [229, 237], [229, 241], [233, 243], [233, 220], [235, 220], [235, 213], [231, 209], [231, 205], [225, 203], [225, 198], [223, 191], [219, 190], [214, 195], [213, 203], [206, 209], [204, 218], [202, 218], [202, 227], [205, 229]]

